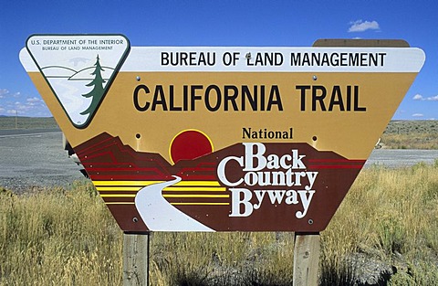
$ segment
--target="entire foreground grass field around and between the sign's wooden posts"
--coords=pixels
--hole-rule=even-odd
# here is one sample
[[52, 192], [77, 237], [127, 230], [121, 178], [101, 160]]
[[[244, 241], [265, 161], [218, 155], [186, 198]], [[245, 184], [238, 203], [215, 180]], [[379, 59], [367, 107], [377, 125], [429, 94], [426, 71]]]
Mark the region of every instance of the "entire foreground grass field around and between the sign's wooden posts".
[[[437, 285], [437, 204], [438, 162], [362, 170], [321, 233], [320, 285]], [[293, 244], [293, 233], [153, 233], [151, 285], [292, 285]], [[3, 189], [0, 253], [0, 285], [121, 284], [122, 233], [92, 185]]]

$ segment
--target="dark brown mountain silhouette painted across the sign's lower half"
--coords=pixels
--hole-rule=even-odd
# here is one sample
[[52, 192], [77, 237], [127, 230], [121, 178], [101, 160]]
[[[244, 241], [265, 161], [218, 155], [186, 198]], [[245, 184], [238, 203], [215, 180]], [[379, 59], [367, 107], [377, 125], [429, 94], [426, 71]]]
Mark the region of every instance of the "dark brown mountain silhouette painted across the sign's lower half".
[[[266, 143], [265, 145], [266, 154], [287, 154], [291, 149], [300, 150], [300, 154], [306, 154], [303, 161], [308, 167], [308, 171], [318, 172], [319, 179], [315, 182], [314, 187], [316, 190], [324, 191], [319, 193], [318, 197], [315, 196], [314, 207], [308, 211], [309, 217], [317, 216], [316, 214], [321, 209], [334, 213], [365, 163], [365, 160], [349, 160], [332, 151], [318, 151], [308, 143]], [[309, 225], [307, 219], [278, 219], [273, 214], [279, 214], [280, 217], [290, 217], [291, 213], [300, 210], [296, 205], [285, 204], [263, 205], [250, 217], [230, 217], [232, 197], [211, 196], [214, 193], [212, 185], [217, 183], [218, 188], [226, 187], [219, 182], [218, 164], [228, 156], [244, 156], [245, 146], [242, 143], [234, 143], [212, 154], [206, 154], [193, 160], [181, 160], [173, 165], [166, 161], [162, 154], [136, 151], [129, 144], [123, 143], [119, 136], [113, 136], [108, 132], [102, 132], [89, 141], [80, 143], [74, 149], [91, 180], [98, 187], [99, 185], [104, 187], [98, 189], [99, 194], [110, 208], [120, 228], [125, 231], [148, 230], [141, 221], [134, 223], [131, 219], [131, 217], [140, 216], [133, 203], [137, 192], [145, 186], [144, 182], [172, 181], [174, 180], [173, 175], [183, 178], [182, 182], [187, 187], [180, 187], [179, 190], [163, 189], [164, 198], [184, 214], [218, 231], [316, 229], [325, 228], [330, 219], [330, 217], [323, 217], [318, 221], [318, 224], [313, 225]], [[266, 172], [268, 169], [260, 171]], [[225, 170], [226, 177], [233, 182], [237, 182], [245, 174], [243, 168], [238, 164], [230, 165]], [[330, 178], [333, 177], [341, 177], [342, 180], [331, 184]], [[138, 188], [132, 188], [134, 185]], [[109, 186], [113, 189], [108, 189]], [[246, 185], [245, 182], [242, 182], [235, 187], [254, 191], [257, 186]], [[287, 186], [284, 184], [266, 186], [266, 191], [282, 187]], [[287, 187], [287, 190], [290, 189], [297, 188], [296, 186]], [[221, 191], [217, 188], [215, 190]], [[231, 194], [229, 190], [223, 189], [222, 192], [224, 193], [220, 194]], [[189, 196], [174, 196], [175, 193]], [[327, 203], [328, 200], [330, 200], [330, 204]]]

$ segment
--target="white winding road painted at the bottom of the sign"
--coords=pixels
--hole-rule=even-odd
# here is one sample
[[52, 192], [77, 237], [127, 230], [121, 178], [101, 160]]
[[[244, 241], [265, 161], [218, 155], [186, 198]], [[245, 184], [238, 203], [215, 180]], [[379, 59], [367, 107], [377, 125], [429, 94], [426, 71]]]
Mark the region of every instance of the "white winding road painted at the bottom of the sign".
[[214, 231], [173, 207], [162, 197], [163, 188], [181, 181], [181, 177], [173, 177], [175, 179], [172, 181], [147, 185], [135, 196], [135, 207], [146, 226], [152, 231]]

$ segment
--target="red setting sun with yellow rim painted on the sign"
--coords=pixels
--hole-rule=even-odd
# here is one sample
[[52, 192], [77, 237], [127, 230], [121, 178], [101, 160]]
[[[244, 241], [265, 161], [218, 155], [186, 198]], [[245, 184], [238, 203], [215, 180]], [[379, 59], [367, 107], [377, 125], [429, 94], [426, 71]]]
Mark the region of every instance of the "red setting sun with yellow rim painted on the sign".
[[210, 138], [199, 130], [189, 129], [179, 132], [172, 139], [169, 148], [172, 164], [180, 160], [193, 160], [213, 152], [213, 143]]

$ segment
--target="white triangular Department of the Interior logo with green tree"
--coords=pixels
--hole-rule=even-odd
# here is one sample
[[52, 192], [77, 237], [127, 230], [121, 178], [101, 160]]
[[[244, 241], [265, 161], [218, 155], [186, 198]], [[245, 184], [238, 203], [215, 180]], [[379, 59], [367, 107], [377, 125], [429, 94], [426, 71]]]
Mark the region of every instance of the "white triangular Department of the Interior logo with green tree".
[[130, 51], [121, 35], [34, 35], [26, 48], [77, 128], [99, 109]]

